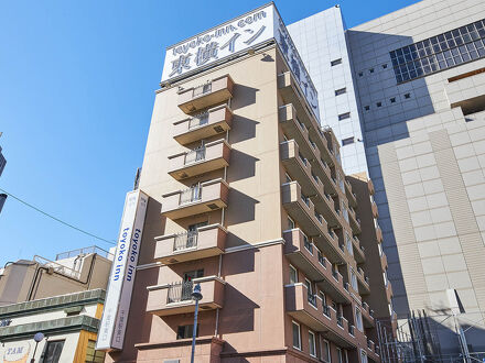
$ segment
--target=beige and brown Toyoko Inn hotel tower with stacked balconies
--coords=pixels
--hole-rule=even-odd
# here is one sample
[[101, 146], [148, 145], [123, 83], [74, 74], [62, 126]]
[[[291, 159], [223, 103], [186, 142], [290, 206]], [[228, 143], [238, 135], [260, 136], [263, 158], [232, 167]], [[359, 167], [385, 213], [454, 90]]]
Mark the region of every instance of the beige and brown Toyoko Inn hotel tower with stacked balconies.
[[190, 362], [195, 285], [196, 362], [380, 361], [392, 289], [374, 186], [346, 177], [320, 117], [272, 3], [166, 50], [101, 321], [107, 361]]

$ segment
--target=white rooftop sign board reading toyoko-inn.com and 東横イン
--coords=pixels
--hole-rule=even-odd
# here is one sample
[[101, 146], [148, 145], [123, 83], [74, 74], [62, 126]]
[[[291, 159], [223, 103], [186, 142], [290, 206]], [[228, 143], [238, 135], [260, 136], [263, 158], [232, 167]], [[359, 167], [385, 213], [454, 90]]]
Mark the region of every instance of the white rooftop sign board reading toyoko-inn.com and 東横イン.
[[271, 40], [279, 45], [313, 114], [320, 121], [316, 89], [272, 3], [166, 48], [162, 82], [227, 62]]

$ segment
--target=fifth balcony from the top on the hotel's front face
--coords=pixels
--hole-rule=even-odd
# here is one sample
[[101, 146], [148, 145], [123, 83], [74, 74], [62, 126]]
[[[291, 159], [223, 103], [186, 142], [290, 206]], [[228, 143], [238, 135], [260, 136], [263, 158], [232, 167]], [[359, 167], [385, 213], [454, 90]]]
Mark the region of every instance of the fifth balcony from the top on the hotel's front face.
[[155, 238], [154, 260], [165, 265], [217, 256], [224, 253], [227, 231], [220, 224]]

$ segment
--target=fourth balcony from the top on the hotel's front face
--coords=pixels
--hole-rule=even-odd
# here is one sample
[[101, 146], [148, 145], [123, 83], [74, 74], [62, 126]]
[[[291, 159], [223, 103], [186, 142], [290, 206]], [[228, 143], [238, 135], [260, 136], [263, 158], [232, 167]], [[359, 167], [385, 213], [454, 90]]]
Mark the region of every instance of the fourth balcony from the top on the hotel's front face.
[[162, 215], [179, 219], [227, 207], [229, 186], [223, 179], [204, 182], [195, 187], [163, 195]]

